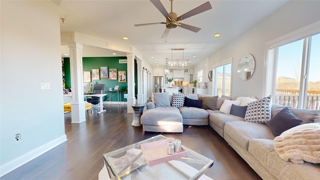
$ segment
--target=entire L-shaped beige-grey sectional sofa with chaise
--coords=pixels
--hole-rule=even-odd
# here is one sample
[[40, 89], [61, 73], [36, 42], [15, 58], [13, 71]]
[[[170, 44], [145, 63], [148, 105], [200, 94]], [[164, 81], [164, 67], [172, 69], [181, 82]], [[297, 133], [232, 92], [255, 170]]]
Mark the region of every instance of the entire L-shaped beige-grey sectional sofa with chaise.
[[[207, 96], [196, 94], [191, 98]], [[160, 99], [165, 99], [160, 97]], [[172, 96], [168, 104], [161, 104], [153, 99], [147, 103], [147, 110], [141, 116], [141, 124], [145, 131], [182, 132], [183, 124], [210, 125], [225, 141], [259, 174], [263, 179], [319, 179], [320, 164], [304, 161], [302, 164], [283, 160], [275, 151], [274, 134], [266, 123], [244, 121], [243, 117], [222, 113], [221, 104], [224, 99], [218, 98], [216, 110], [197, 107], [172, 107]], [[249, 98], [250, 101], [254, 99]], [[161, 100], [160, 100], [161, 101]], [[243, 99], [242, 99], [243, 102]], [[247, 101], [249, 102], [249, 101]], [[246, 102], [246, 104], [247, 104]], [[243, 105], [243, 103], [241, 103]], [[221, 109], [220, 109], [221, 107]], [[285, 106], [271, 103], [271, 116]], [[320, 123], [320, 110], [289, 108], [304, 123]], [[225, 112], [225, 110], [223, 110]], [[320, 127], [320, 124], [318, 124]], [[320, 130], [320, 129], [319, 129]], [[278, 136], [277, 136], [278, 137]], [[317, 148], [319, 147], [320, 144]], [[320, 158], [318, 154], [318, 158]]]

